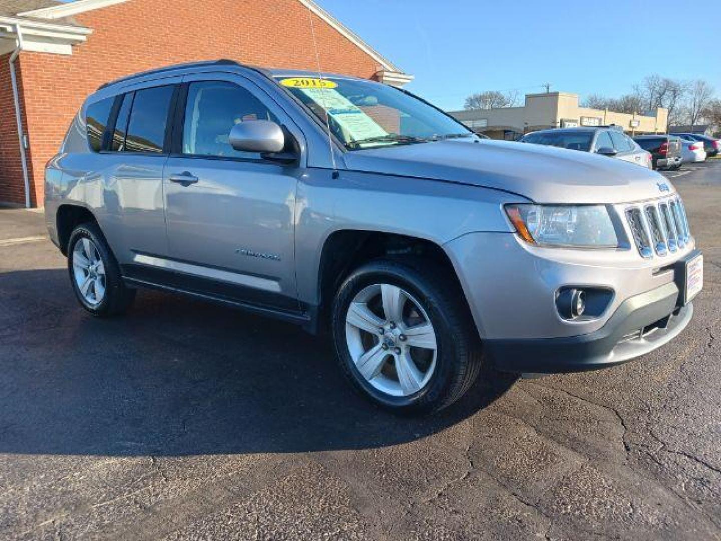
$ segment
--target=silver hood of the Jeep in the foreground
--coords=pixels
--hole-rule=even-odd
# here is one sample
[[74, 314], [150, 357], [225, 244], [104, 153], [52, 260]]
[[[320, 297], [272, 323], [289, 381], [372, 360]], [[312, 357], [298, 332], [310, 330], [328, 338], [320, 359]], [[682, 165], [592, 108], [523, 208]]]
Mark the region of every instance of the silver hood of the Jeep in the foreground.
[[448, 139], [349, 151], [345, 163], [354, 171], [505, 190], [537, 203], [625, 203], [676, 191], [657, 172], [620, 159], [488, 139]]

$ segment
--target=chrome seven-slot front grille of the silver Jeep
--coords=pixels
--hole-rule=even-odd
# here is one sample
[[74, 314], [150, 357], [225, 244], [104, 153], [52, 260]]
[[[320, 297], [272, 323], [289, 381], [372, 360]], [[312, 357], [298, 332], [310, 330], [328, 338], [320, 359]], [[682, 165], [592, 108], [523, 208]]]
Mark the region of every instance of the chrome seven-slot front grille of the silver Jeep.
[[691, 242], [689, 221], [678, 195], [629, 206], [626, 218], [643, 258], [663, 257]]

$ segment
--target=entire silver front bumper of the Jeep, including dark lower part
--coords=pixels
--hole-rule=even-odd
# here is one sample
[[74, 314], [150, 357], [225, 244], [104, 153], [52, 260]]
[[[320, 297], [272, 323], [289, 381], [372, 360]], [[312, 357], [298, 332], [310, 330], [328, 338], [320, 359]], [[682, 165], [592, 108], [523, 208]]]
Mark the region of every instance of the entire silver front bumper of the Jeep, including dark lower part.
[[[635, 249], [534, 247], [500, 233], [466, 234], [445, 247], [479, 337], [500, 370], [553, 373], [619, 364], [674, 338], [693, 311], [681, 307], [678, 271], [696, 252], [692, 238], [677, 252], [649, 259]], [[564, 288], [612, 295], [598, 315], [565, 320], [556, 305]]]

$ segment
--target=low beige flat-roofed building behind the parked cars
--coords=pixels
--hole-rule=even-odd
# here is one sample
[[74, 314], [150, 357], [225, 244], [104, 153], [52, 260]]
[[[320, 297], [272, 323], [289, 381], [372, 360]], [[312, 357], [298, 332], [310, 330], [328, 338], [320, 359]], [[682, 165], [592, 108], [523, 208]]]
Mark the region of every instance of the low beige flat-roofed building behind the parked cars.
[[587, 109], [578, 105], [578, 94], [547, 92], [526, 94], [523, 107], [451, 111], [458, 120], [494, 139], [516, 139], [523, 133], [546, 128], [578, 126], [622, 126], [629, 135], [665, 133], [668, 111], [655, 110], [655, 115], [616, 113]]

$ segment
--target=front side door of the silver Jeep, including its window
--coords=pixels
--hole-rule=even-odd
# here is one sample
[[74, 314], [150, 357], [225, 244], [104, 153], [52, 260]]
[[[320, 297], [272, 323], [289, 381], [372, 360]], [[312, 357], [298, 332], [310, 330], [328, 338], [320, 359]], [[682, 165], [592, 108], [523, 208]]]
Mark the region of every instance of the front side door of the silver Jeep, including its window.
[[300, 170], [229, 144], [235, 123], [291, 120], [241, 76], [187, 76], [180, 95], [180, 133], [164, 171], [170, 257], [155, 263], [182, 277], [185, 289], [296, 311]]

